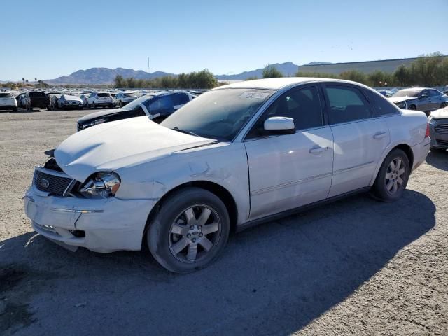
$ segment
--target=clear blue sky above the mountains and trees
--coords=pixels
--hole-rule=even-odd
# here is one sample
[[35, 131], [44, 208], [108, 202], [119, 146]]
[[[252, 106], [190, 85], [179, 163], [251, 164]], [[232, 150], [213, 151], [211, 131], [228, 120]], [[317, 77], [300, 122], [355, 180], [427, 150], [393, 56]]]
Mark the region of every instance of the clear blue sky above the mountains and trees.
[[2, 1], [0, 80], [448, 54], [448, 0]]

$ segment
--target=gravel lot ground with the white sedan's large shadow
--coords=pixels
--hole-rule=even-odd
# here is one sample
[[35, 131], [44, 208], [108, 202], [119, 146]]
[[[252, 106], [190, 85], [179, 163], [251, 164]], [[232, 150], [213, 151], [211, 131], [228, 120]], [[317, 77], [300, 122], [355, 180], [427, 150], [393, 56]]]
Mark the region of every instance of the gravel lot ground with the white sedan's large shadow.
[[177, 275], [146, 249], [71, 253], [31, 230], [33, 168], [86, 113], [0, 113], [0, 335], [448, 335], [448, 153], [398, 202], [260, 225]]

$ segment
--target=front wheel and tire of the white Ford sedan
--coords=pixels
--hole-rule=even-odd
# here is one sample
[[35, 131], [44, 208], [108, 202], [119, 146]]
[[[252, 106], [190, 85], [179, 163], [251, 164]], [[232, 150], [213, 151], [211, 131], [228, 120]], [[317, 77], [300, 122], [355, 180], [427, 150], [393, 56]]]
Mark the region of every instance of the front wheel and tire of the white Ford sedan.
[[171, 195], [149, 224], [149, 251], [171, 272], [190, 273], [207, 267], [221, 254], [230, 231], [221, 199], [201, 188]]

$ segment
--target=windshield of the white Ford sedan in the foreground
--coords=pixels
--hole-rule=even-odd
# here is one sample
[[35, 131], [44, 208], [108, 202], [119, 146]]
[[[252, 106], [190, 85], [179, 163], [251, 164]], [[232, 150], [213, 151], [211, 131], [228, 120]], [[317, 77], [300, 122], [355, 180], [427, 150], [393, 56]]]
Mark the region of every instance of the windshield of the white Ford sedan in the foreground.
[[201, 137], [232, 141], [274, 90], [221, 89], [201, 94], [160, 125]]

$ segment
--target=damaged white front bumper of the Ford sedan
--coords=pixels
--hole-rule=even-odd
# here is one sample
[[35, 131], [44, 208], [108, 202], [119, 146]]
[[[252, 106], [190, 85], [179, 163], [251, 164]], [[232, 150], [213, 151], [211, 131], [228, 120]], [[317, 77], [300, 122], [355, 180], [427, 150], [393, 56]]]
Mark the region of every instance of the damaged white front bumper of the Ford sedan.
[[31, 186], [25, 213], [34, 230], [69, 248], [95, 252], [141, 249], [146, 220], [157, 200], [48, 196]]

